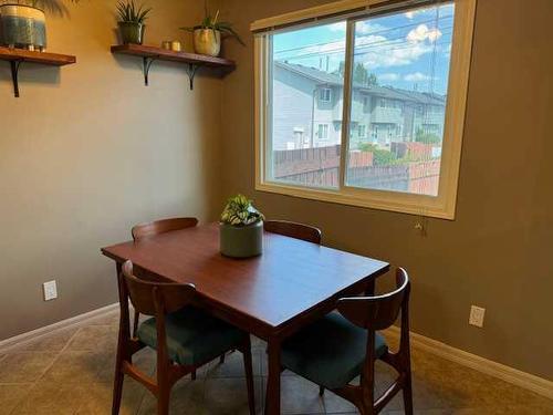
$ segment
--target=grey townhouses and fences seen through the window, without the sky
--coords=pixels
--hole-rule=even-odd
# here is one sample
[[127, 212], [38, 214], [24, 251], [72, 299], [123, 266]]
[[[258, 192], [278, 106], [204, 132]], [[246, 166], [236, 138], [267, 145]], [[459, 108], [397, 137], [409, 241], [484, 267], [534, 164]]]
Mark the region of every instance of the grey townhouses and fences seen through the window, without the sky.
[[[437, 195], [446, 96], [383, 86], [367, 74], [357, 77], [347, 185]], [[274, 62], [274, 179], [337, 187], [343, 84], [340, 72]]]

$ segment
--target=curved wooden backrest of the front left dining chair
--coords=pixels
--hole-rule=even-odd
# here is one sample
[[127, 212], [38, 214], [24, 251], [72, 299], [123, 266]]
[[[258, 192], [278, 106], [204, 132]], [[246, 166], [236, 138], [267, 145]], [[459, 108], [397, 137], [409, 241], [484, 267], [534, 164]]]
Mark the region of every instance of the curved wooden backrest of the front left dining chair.
[[136, 278], [131, 261], [123, 264], [121, 284], [124, 290], [122, 297], [127, 294], [135, 310], [146, 315], [156, 315], [159, 311], [173, 313], [189, 304], [196, 294], [194, 284], [152, 282]]

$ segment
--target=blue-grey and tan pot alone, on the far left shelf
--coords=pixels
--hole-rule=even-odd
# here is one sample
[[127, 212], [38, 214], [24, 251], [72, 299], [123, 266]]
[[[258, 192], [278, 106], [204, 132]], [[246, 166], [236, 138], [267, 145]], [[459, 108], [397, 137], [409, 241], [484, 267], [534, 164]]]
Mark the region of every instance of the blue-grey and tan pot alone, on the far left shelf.
[[2, 4], [0, 22], [1, 44], [30, 50], [46, 46], [46, 18], [42, 10], [22, 4]]

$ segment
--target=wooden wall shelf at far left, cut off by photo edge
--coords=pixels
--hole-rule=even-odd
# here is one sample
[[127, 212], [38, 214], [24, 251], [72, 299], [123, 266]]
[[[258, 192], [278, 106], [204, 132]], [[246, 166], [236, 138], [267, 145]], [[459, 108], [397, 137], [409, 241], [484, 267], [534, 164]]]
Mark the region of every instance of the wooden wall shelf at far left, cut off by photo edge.
[[76, 58], [67, 54], [27, 51], [0, 46], [0, 60], [10, 62], [13, 94], [19, 97], [19, 68], [23, 62], [39, 63], [48, 66], [63, 66], [76, 62]]

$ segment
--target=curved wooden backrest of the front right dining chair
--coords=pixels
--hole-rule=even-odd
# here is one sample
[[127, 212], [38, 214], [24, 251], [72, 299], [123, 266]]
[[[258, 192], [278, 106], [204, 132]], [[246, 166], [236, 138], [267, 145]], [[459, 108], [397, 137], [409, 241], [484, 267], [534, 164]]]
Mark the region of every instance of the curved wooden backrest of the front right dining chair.
[[403, 268], [396, 271], [396, 287], [395, 291], [383, 295], [340, 299], [337, 309], [347, 320], [363, 329], [387, 329], [397, 320], [399, 311], [407, 318], [410, 282]]

